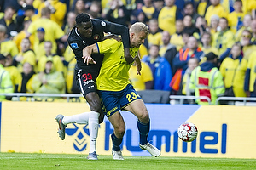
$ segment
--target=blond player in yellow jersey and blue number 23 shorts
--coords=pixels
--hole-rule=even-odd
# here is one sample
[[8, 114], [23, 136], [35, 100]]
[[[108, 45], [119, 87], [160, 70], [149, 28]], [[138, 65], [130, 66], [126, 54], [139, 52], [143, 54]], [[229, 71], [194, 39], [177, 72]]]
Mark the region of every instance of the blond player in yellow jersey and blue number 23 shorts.
[[[148, 37], [148, 27], [142, 22], [133, 24], [130, 28], [130, 54], [137, 63], [138, 74], [141, 71], [140, 59], [137, 55], [138, 48]], [[111, 135], [113, 141], [113, 159], [124, 160], [120, 150], [125, 134], [125, 122], [119, 110], [131, 111], [137, 116], [137, 128], [140, 132], [139, 146], [142, 150], [148, 150], [152, 156], [160, 156], [160, 150], [148, 143], [149, 116], [143, 100], [137, 94], [129, 81], [128, 71], [131, 64], [124, 58], [122, 42], [108, 39], [96, 42], [84, 48], [84, 63], [96, 62], [90, 57], [92, 53], [105, 54], [96, 85], [98, 94], [102, 99], [102, 111], [113, 125]]]

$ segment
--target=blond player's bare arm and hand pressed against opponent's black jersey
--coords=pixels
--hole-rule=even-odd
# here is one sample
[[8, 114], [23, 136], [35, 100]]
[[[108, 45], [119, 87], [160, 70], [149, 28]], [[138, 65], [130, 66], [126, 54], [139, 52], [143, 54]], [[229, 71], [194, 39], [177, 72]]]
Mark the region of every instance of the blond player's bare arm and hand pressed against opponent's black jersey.
[[90, 46], [87, 46], [83, 49], [83, 57], [82, 58], [84, 59], [84, 63], [86, 63], [86, 65], [96, 64], [96, 61], [91, 58], [92, 53], [99, 53], [96, 43], [94, 43]]

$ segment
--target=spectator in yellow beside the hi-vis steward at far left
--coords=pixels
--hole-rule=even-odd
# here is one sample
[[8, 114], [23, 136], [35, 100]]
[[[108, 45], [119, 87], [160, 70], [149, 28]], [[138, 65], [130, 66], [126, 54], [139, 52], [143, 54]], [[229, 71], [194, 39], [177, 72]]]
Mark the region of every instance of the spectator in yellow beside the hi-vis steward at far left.
[[13, 65], [13, 57], [11, 56], [11, 54], [7, 54], [5, 56], [5, 65], [4, 65], [4, 70], [9, 72], [9, 75], [11, 77], [11, 81], [13, 83], [13, 88], [14, 88], [14, 92], [18, 92], [18, 86], [20, 84], [21, 81], [21, 73], [18, 70], [18, 68]]

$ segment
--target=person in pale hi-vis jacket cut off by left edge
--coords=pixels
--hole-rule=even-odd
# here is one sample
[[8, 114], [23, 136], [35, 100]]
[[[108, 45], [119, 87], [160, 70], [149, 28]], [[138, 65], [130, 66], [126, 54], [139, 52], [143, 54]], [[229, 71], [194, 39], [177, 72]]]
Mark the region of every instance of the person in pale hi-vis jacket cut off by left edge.
[[[9, 72], [4, 70], [3, 65], [5, 65], [5, 57], [0, 54], [0, 93], [14, 93], [13, 84]], [[6, 96], [0, 96], [0, 101], [6, 100]]]

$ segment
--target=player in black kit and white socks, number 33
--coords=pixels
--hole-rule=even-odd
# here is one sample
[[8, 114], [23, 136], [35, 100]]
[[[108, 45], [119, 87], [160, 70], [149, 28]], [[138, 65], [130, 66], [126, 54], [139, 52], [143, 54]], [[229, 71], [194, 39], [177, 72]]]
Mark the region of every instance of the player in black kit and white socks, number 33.
[[65, 128], [69, 123], [89, 124], [90, 131], [90, 151], [87, 159], [97, 160], [96, 155], [96, 137], [98, 133], [98, 125], [103, 121], [104, 115], [101, 108], [101, 99], [96, 93], [96, 77], [99, 74], [103, 57], [92, 54], [91, 57], [96, 64], [85, 64], [83, 57], [83, 49], [95, 42], [104, 40], [104, 32], [121, 35], [124, 44], [125, 60], [131, 64], [133, 58], [130, 55], [130, 37], [129, 29], [125, 26], [114, 24], [105, 20], [90, 19], [88, 14], [78, 14], [76, 26], [70, 32], [67, 42], [73, 49], [73, 53], [77, 59], [75, 67], [76, 82], [80, 92], [84, 95], [84, 99], [90, 105], [90, 112], [84, 112], [79, 115], [63, 116], [57, 115], [56, 122], [59, 124], [59, 136], [65, 139]]

